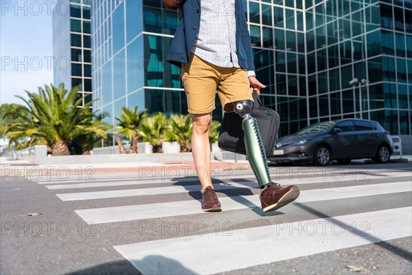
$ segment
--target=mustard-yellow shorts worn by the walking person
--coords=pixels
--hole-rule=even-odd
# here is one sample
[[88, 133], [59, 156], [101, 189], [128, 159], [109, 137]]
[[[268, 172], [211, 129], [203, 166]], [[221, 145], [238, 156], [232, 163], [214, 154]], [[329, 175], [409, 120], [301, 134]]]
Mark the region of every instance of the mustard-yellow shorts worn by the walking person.
[[216, 91], [227, 113], [233, 111], [231, 102], [253, 100], [246, 69], [218, 67], [190, 54], [189, 63], [182, 63], [181, 77], [189, 113], [213, 111]]

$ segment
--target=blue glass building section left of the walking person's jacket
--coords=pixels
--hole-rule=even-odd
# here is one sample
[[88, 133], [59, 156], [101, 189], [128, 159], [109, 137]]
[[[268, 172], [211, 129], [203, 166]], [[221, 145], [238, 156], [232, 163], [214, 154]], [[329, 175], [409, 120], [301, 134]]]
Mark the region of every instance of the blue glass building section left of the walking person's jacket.
[[94, 108], [111, 124], [122, 107], [187, 113], [180, 71], [168, 63], [179, 14], [161, 1], [93, 1]]

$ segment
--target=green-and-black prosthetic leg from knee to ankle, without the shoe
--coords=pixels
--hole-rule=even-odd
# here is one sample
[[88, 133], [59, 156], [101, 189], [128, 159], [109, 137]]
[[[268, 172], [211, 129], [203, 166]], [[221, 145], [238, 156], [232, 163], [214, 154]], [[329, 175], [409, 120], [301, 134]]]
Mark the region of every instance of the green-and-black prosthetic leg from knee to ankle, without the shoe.
[[239, 100], [232, 103], [233, 111], [242, 117], [242, 129], [244, 131], [244, 144], [246, 146], [246, 153], [251, 164], [251, 168], [261, 188], [269, 181], [271, 176], [269, 174], [268, 163], [266, 159], [266, 152], [258, 122], [252, 118], [251, 113], [253, 109], [252, 100]]

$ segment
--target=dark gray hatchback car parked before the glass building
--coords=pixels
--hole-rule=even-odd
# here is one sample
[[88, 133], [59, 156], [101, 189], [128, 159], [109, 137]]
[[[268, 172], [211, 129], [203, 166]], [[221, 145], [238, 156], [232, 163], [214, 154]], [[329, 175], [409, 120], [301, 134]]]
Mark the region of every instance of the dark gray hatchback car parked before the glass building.
[[363, 158], [387, 163], [392, 153], [393, 142], [389, 132], [378, 122], [345, 119], [315, 123], [280, 138], [270, 160], [314, 162], [321, 166], [332, 160], [348, 164], [352, 159]]

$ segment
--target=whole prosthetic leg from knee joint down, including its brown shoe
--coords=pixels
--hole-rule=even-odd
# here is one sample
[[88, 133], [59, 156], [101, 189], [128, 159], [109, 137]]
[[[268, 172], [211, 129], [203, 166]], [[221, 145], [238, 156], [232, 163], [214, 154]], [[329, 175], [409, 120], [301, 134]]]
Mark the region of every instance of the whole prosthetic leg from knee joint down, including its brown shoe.
[[251, 116], [253, 109], [252, 100], [240, 100], [232, 103], [235, 113], [242, 117], [242, 129], [244, 131], [244, 144], [246, 154], [251, 164], [253, 173], [260, 188], [260, 203], [263, 212], [274, 211], [286, 204], [294, 201], [299, 197], [299, 188], [297, 186], [288, 186], [283, 188], [280, 184], [271, 181], [269, 174], [266, 152], [264, 150], [262, 137], [258, 127], [258, 122]]

